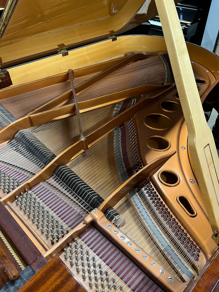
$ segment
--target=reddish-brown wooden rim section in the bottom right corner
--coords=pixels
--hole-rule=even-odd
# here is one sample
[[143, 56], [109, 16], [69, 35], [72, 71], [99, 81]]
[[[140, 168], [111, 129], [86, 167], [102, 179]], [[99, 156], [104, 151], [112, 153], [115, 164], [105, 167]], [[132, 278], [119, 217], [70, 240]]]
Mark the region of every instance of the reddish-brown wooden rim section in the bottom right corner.
[[219, 253], [207, 268], [204, 275], [195, 285], [192, 280], [185, 288], [184, 292], [216, 292], [219, 291]]

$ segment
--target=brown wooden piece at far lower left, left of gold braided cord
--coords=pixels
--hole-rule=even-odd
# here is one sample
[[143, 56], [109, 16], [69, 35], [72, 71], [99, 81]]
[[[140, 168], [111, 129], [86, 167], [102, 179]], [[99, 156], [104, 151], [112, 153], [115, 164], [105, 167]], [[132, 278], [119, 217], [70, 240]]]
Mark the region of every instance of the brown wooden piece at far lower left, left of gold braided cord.
[[18, 263], [0, 237], [0, 289], [6, 282], [20, 277], [20, 270]]

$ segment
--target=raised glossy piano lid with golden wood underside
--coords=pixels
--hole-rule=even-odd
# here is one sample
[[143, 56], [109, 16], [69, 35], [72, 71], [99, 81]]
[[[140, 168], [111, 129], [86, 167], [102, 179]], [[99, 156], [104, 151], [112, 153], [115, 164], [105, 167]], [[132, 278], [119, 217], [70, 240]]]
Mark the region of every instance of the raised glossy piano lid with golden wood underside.
[[0, 21], [1, 68], [109, 38], [155, 15], [154, 0], [8, 0]]

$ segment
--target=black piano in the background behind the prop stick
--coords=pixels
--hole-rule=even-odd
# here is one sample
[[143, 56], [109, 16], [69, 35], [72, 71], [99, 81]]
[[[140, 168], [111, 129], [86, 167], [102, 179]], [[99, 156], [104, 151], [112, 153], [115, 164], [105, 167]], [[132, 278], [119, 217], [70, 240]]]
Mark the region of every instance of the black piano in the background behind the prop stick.
[[[183, 0], [176, 4], [176, 9], [186, 41], [199, 46], [201, 45], [210, 6], [211, 0]], [[120, 35], [124, 34], [164, 36], [158, 15], [148, 22], [142, 23]]]

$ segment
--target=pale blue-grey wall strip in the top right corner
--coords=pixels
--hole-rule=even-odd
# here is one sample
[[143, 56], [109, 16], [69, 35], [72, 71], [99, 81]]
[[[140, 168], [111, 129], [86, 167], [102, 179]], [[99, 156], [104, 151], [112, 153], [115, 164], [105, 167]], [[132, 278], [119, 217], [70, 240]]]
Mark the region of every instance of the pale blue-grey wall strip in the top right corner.
[[[206, 0], [208, 1], [208, 0]], [[219, 0], [212, 0], [201, 46], [213, 51], [219, 30]]]

